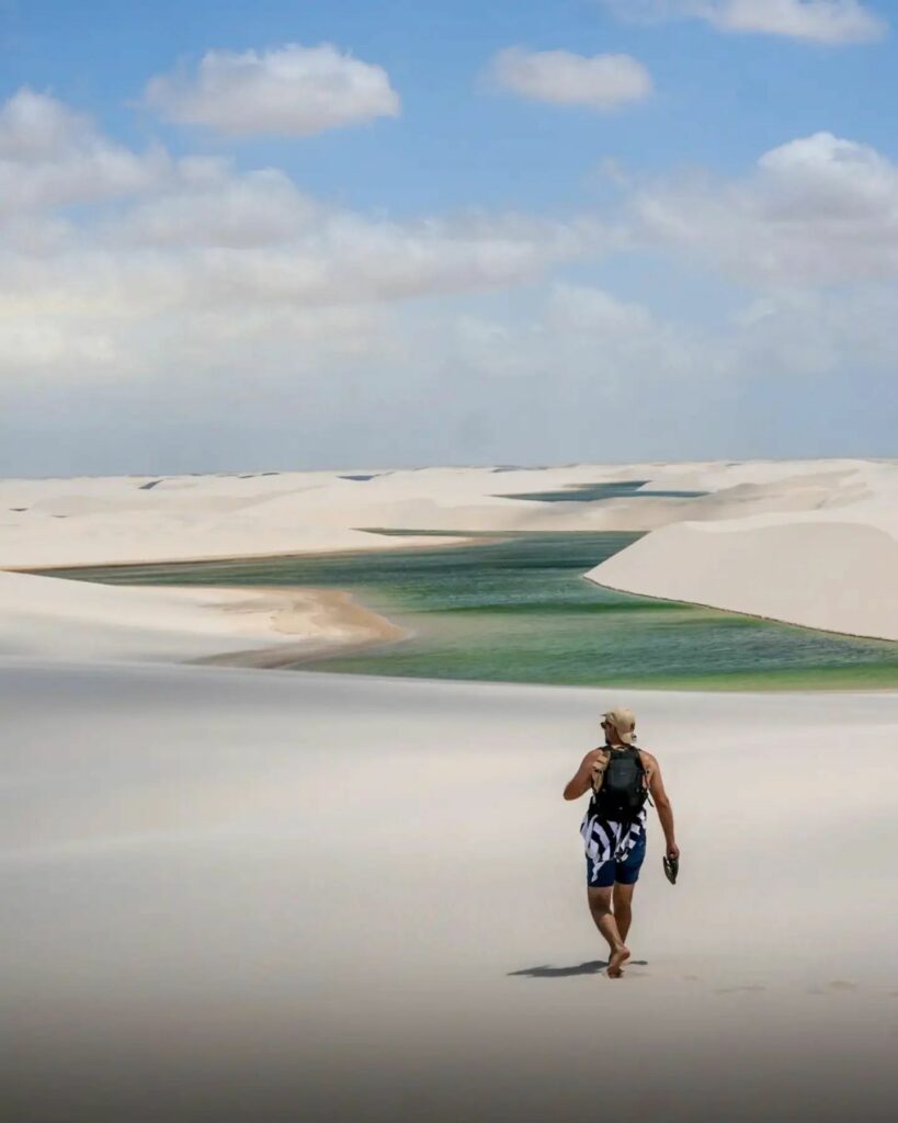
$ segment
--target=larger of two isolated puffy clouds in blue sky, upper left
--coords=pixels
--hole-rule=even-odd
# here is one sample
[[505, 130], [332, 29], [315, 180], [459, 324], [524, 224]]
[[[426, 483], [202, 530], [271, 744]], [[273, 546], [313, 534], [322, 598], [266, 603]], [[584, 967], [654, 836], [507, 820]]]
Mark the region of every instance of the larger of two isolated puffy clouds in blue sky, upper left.
[[400, 112], [398, 94], [383, 67], [330, 44], [210, 51], [195, 73], [152, 79], [144, 100], [168, 120], [229, 136], [306, 136]]

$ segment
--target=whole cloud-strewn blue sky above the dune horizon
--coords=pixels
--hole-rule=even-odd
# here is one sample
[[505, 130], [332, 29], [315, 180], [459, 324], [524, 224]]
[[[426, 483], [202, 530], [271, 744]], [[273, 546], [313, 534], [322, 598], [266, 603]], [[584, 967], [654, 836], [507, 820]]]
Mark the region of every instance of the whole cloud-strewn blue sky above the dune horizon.
[[898, 455], [894, 0], [0, 0], [0, 474]]

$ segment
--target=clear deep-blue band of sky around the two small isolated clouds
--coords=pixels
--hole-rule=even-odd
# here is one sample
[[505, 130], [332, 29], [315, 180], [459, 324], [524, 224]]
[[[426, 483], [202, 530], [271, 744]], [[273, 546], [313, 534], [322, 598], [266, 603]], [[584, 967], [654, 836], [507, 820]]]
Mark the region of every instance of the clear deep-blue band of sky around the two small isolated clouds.
[[[244, 51], [330, 42], [384, 66], [402, 118], [287, 145], [212, 145], [246, 167], [275, 163], [315, 191], [398, 213], [434, 207], [565, 208], [588, 200], [596, 164], [640, 171], [699, 163], [749, 167], [784, 139], [828, 129], [898, 157], [887, 107], [898, 104], [895, 40], [862, 48], [772, 36], [721, 36], [700, 22], [621, 25], [596, 0], [256, 0], [132, 4], [31, 0], [11, 6], [3, 92], [53, 91], [117, 136], [195, 147], [129, 109], [146, 79], [210, 47]], [[886, 10], [880, 3], [880, 10]], [[597, 117], [485, 95], [489, 58], [510, 44], [585, 55], [626, 52], [656, 80], [645, 104]], [[193, 145], [191, 145], [193, 141]], [[209, 139], [200, 141], [209, 147]]]

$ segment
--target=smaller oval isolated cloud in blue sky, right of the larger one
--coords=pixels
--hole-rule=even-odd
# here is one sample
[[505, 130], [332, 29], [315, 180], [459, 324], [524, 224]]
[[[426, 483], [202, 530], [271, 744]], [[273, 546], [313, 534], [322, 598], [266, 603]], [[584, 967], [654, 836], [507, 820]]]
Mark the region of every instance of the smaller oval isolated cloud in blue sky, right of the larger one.
[[640, 101], [652, 91], [649, 72], [630, 55], [576, 55], [569, 51], [507, 47], [491, 75], [502, 89], [553, 106], [605, 111]]

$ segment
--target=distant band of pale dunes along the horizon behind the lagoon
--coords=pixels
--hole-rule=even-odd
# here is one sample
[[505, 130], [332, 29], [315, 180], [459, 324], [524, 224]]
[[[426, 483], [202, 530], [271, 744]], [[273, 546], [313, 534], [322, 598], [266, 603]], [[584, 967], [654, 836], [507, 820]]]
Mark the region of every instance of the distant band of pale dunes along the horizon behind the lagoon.
[[[861, 489], [895, 503], [898, 462], [575, 465], [501, 471], [340, 473], [0, 482], [0, 567], [176, 560], [407, 545], [358, 528], [416, 530], [650, 530], [684, 520], [855, 503]], [[544, 503], [503, 494], [648, 481], [698, 499]], [[150, 490], [146, 490], [152, 484]], [[414, 542], [414, 539], [411, 540]]]

